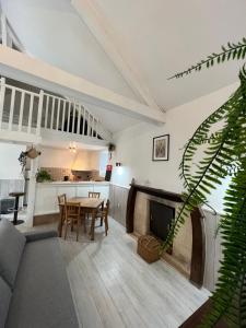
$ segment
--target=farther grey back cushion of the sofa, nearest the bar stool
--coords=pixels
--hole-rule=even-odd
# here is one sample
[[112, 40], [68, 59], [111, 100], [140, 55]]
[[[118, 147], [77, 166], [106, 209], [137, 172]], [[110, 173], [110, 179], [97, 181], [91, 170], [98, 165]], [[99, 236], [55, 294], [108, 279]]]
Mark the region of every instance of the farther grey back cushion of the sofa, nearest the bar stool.
[[13, 288], [25, 237], [8, 220], [0, 221], [0, 276]]

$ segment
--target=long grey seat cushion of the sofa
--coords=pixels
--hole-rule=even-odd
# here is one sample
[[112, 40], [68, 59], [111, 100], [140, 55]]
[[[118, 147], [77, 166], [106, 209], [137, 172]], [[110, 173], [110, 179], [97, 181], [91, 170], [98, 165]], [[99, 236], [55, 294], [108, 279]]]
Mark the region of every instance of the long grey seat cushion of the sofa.
[[79, 327], [58, 238], [26, 243], [5, 328]]

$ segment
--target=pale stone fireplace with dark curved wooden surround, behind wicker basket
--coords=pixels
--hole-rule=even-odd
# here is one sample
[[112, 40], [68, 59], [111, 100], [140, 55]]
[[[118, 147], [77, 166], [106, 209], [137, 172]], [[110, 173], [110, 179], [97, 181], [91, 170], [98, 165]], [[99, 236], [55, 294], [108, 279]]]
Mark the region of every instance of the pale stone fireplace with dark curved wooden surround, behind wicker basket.
[[[128, 233], [134, 236], [155, 234], [165, 238], [168, 230], [168, 222], [172, 222], [175, 212], [179, 212], [183, 206], [181, 196], [178, 194], [155, 189], [152, 187], [131, 184], [128, 194], [126, 227]], [[154, 204], [153, 204], [153, 202]], [[151, 206], [152, 203], [152, 206]], [[157, 204], [156, 204], [157, 203]], [[150, 207], [153, 207], [150, 209]], [[161, 208], [160, 208], [161, 207]], [[172, 208], [172, 210], [169, 209]], [[156, 215], [164, 212], [165, 214]], [[150, 213], [157, 223], [150, 222]], [[161, 221], [166, 216], [167, 222]], [[161, 229], [160, 229], [161, 224]], [[162, 226], [164, 224], [164, 226]], [[161, 233], [160, 233], [161, 231]], [[172, 249], [163, 254], [164, 260], [175, 267], [179, 272], [198, 286], [202, 286], [204, 273], [204, 231], [203, 216], [198, 208], [187, 213], [185, 224], [180, 226]]]

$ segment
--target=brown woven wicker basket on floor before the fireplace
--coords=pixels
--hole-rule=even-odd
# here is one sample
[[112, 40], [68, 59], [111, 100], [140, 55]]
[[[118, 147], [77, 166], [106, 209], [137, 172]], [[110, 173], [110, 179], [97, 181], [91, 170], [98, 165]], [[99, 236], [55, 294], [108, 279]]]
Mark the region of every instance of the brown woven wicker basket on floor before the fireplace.
[[138, 254], [148, 262], [152, 263], [160, 259], [161, 243], [153, 236], [141, 236], [138, 239]]

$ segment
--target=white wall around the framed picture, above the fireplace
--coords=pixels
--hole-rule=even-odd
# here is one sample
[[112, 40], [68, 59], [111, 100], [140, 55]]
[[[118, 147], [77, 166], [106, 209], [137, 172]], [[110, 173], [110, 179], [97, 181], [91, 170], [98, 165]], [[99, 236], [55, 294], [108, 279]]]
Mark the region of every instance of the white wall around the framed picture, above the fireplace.
[[[114, 167], [113, 183], [129, 186], [133, 177], [138, 184], [181, 192], [184, 188], [178, 176], [178, 166], [185, 143], [202, 120], [219, 108], [236, 87], [237, 84], [223, 87], [168, 110], [166, 124], [162, 127], [140, 124], [116, 134], [114, 161], [121, 162], [122, 167], [120, 171]], [[167, 133], [171, 136], [169, 161], [152, 162], [153, 137]], [[218, 212], [222, 212], [222, 197], [226, 186], [227, 181], [224, 181], [211, 196], [211, 204]]]

